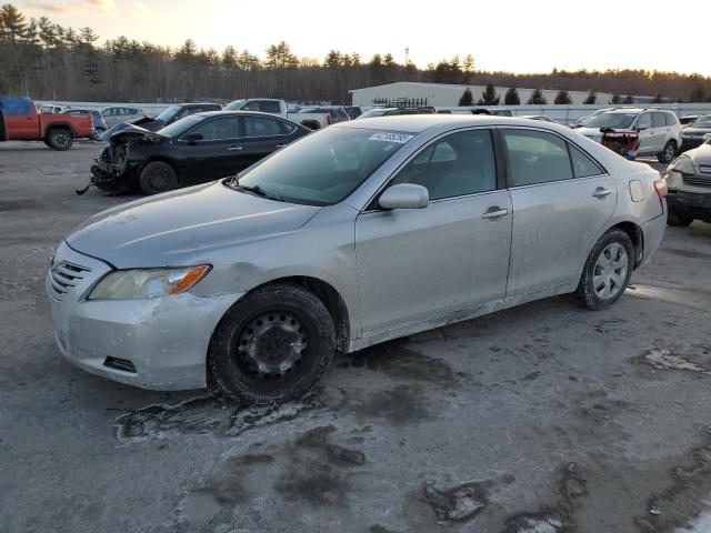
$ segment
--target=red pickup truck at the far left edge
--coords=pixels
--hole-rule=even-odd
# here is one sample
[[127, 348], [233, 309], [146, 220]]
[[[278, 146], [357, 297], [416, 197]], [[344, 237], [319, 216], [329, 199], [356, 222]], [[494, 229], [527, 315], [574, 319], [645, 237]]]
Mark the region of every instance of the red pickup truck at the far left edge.
[[30, 98], [0, 97], [0, 141], [44, 141], [54, 150], [69, 150], [74, 139], [93, 134], [90, 114], [38, 113]]

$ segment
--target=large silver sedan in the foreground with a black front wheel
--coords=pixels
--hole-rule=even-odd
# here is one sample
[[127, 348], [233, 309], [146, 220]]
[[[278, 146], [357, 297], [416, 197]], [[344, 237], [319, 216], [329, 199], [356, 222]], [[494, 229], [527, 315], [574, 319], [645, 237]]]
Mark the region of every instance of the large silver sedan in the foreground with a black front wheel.
[[281, 402], [334, 350], [557, 294], [612, 305], [662, 240], [664, 192], [649, 165], [558, 124], [342, 122], [237, 177], [89, 219], [48, 272], [54, 336], [116, 381], [210, 375], [240, 402]]

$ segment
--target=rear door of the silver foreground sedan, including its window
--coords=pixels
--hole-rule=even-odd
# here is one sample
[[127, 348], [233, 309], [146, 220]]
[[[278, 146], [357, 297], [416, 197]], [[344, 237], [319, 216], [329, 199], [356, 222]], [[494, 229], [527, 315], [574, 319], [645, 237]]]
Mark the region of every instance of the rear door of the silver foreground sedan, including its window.
[[513, 204], [507, 298], [533, 300], [575, 282], [614, 213], [617, 187], [601, 165], [552, 132], [500, 131]]

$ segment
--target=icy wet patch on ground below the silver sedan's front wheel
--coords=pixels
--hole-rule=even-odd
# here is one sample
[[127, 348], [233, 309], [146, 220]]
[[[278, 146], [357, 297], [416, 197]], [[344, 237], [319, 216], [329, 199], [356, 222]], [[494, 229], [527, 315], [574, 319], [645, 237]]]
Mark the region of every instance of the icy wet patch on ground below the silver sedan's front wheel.
[[237, 436], [253, 428], [293, 420], [320, 406], [313, 396], [282, 405], [239, 408], [219, 396], [204, 394], [176, 404], [153, 404], [116, 419], [119, 442], [173, 439], [180, 435]]

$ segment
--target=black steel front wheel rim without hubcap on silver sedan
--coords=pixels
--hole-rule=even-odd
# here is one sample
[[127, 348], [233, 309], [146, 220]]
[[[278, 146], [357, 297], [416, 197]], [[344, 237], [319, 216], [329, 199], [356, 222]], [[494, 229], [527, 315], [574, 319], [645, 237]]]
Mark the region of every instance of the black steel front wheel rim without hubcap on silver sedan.
[[307, 330], [290, 312], [272, 311], [251, 320], [237, 340], [237, 365], [252, 379], [288, 379], [306, 359]]

